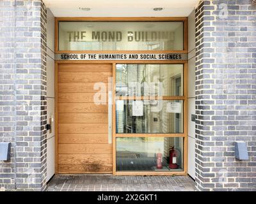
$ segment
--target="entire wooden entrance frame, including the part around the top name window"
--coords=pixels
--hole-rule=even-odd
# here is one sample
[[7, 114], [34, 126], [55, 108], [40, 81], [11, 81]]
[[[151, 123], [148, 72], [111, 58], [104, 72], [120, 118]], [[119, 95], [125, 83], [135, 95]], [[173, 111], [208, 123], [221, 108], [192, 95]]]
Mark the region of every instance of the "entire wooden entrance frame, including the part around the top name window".
[[[163, 21], [182, 21], [184, 22], [184, 49], [183, 50], [93, 50], [93, 51], [59, 51], [58, 50], [58, 22], [59, 21], [106, 21], [106, 22], [163, 22]], [[140, 54], [140, 53], [184, 53], [188, 54], [188, 17], [58, 17], [55, 18], [55, 36], [54, 36], [54, 50], [55, 54], [61, 53], [100, 53], [100, 54], [115, 54], [115, 53], [127, 53], [127, 54]], [[118, 61], [118, 60], [95, 60], [95, 61], [55, 61], [55, 70], [54, 70], [54, 79], [55, 79], [55, 174], [58, 174], [58, 66], [63, 63], [81, 63], [81, 64], [97, 64], [97, 63], [108, 63], [113, 64], [113, 94], [112, 94], [112, 152], [113, 152], [113, 175], [187, 175], [188, 174], [188, 60], [184, 61]], [[115, 114], [115, 64], [184, 64], [184, 94], [183, 96], [172, 96], [172, 97], [163, 97], [163, 99], [182, 99], [184, 101], [183, 111], [184, 111], [184, 133], [179, 134], [157, 134], [157, 136], [177, 136], [182, 135], [184, 138], [183, 146], [184, 146], [184, 171], [116, 171], [116, 114]], [[136, 134], [137, 136], [146, 136], [145, 134]], [[127, 136], [118, 134], [119, 136]], [[153, 136], [152, 134], [148, 134], [147, 136]]]

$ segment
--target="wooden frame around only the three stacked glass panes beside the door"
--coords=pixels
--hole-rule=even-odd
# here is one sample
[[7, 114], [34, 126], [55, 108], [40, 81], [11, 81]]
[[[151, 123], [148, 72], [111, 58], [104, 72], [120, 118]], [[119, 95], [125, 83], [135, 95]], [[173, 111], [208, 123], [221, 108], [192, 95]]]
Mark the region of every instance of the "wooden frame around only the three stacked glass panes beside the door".
[[[119, 64], [183, 64], [183, 96], [163, 96], [164, 100], [182, 100], [183, 102], [183, 133], [134, 133], [134, 134], [116, 134], [116, 113], [115, 113], [115, 100], [116, 99], [143, 99], [148, 97], [116, 97], [116, 87], [115, 87], [115, 77], [116, 77], [116, 64], [113, 62], [113, 115], [112, 115], [112, 135], [113, 135], [113, 175], [188, 175], [188, 62], [177, 62], [177, 61], [147, 61], [147, 62], [131, 62], [131, 61], [122, 61]], [[157, 97], [155, 98], [157, 99]], [[165, 136], [165, 137], [179, 137], [183, 138], [183, 171], [116, 171], [116, 138], [118, 137], [152, 137], [152, 136]]]

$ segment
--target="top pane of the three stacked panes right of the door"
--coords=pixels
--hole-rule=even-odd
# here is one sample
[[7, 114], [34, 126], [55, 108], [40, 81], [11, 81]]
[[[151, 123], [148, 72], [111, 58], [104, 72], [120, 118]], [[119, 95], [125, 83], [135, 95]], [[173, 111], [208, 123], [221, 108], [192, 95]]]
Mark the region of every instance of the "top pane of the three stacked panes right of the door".
[[182, 96], [183, 64], [116, 64], [116, 96]]

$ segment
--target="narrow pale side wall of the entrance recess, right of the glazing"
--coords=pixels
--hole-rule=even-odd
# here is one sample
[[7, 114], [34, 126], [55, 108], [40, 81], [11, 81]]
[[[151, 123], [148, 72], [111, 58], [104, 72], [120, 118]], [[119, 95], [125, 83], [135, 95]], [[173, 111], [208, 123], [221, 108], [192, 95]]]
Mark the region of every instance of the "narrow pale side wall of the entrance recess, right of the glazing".
[[188, 17], [188, 174], [195, 179], [195, 10]]

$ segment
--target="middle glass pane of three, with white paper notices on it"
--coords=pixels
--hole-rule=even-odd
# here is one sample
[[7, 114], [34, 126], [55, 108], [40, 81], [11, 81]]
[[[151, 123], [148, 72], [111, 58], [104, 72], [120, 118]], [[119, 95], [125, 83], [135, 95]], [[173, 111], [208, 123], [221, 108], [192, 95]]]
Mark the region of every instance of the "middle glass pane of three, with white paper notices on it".
[[117, 100], [116, 133], [183, 133], [183, 101]]

